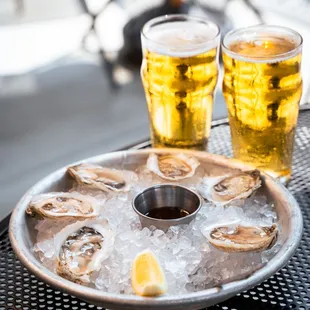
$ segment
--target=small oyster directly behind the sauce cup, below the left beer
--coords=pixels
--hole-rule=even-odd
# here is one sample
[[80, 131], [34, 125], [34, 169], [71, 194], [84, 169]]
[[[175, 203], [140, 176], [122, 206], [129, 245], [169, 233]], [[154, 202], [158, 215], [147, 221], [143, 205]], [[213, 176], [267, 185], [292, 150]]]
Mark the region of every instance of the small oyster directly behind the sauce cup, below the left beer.
[[199, 162], [196, 158], [185, 154], [151, 154], [146, 166], [163, 179], [177, 181], [192, 177]]

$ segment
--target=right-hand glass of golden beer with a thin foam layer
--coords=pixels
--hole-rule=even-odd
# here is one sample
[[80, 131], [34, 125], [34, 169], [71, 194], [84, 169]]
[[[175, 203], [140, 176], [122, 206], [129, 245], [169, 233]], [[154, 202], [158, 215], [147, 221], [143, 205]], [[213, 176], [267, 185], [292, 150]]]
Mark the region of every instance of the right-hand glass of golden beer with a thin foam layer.
[[266, 25], [232, 31], [222, 44], [234, 157], [282, 183], [291, 176], [301, 49], [297, 32]]

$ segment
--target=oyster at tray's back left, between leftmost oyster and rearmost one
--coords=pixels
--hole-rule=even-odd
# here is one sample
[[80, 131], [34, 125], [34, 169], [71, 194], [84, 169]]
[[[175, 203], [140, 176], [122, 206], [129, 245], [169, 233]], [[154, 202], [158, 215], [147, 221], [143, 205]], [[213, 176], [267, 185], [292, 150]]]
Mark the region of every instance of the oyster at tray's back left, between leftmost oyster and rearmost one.
[[68, 168], [69, 174], [79, 183], [103, 191], [126, 192], [130, 189], [128, 179], [135, 179], [131, 171], [104, 168], [94, 164], [80, 164]]

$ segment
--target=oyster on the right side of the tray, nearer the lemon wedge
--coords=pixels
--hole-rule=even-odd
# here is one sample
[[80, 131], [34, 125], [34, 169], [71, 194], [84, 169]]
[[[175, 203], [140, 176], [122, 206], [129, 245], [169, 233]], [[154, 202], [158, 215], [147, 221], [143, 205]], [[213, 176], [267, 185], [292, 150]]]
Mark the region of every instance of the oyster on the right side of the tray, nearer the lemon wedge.
[[224, 252], [254, 252], [270, 248], [277, 236], [277, 225], [259, 226], [219, 226], [207, 235], [209, 242]]

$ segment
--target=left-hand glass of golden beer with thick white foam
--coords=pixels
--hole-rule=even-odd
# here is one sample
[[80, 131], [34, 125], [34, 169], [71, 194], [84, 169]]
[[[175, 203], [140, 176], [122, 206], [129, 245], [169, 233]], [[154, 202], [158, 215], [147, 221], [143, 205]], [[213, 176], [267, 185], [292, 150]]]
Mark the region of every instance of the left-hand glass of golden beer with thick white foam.
[[187, 15], [166, 15], [141, 31], [141, 78], [153, 147], [205, 149], [218, 77], [220, 31]]

